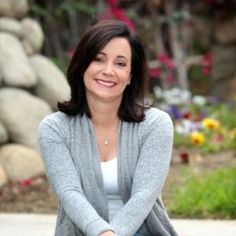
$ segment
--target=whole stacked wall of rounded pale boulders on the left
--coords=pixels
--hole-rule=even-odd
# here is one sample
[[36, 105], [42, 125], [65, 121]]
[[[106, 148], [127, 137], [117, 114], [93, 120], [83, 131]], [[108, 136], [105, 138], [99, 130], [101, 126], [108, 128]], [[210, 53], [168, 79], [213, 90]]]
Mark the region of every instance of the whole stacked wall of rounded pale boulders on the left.
[[43, 31], [27, 0], [0, 1], [0, 187], [44, 174], [37, 130], [68, 99], [65, 75], [40, 55]]

